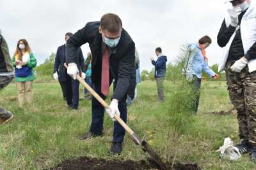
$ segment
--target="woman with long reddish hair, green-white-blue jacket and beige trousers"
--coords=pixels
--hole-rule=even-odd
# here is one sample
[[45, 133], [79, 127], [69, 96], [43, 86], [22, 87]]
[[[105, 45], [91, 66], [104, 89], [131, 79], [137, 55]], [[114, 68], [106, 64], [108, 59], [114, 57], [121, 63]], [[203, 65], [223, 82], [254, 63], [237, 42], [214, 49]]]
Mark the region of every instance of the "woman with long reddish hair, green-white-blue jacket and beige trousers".
[[24, 98], [26, 98], [27, 103], [32, 104], [32, 84], [35, 80], [33, 68], [36, 66], [36, 59], [26, 39], [18, 41], [12, 65], [15, 67], [19, 106], [24, 105]]

